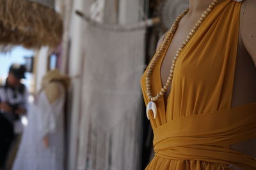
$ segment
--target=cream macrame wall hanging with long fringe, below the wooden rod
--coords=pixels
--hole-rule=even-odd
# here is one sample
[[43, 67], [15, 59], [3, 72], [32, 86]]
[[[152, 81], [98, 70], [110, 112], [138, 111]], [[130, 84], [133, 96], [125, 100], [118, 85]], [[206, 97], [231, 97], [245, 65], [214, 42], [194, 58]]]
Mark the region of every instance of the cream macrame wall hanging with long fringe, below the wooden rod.
[[139, 169], [144, 38], [86, 25], [77, 169]]

